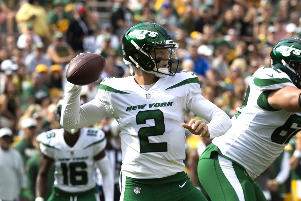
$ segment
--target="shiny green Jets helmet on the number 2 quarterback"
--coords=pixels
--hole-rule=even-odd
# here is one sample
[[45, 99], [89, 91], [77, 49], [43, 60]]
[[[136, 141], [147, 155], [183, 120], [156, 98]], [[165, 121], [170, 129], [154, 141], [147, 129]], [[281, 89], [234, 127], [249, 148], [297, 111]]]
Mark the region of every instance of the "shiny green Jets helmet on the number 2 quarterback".
[[176, 46], [159, 24], [136, 24], [126, 31], [122, 43], [123, 61], [130, 65], [131, 71], [136, 67], [157, 77], [175, 75], [178, 69]]

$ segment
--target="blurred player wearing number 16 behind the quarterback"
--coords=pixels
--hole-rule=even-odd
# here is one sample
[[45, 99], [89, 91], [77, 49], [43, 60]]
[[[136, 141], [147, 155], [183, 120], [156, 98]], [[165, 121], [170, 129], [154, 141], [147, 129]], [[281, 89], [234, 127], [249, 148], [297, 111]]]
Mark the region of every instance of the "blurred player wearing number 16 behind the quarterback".
[[[57, 104], [58, 121], [62, 102]], [[54, 129], [42, 133], [39, 140], [42, 159], [36, 181], [36, 201], [44, 200], [47, 175], [53, 162], [55, 181], [48, 201], [99, 201], [95, 164], [103, 176], [105, 200], [113, 201], [113, 172], [104, 152], [107, 140], [102, 130]]]

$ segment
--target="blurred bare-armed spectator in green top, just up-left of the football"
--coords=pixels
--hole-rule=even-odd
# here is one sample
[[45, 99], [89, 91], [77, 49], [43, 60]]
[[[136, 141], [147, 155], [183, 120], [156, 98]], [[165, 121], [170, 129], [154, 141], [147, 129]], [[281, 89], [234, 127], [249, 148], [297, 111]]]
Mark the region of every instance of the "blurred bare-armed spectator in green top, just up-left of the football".
[[75, 52], [72, 47], [65, 42], [64, 35], [61, 32], [54, 34], [54, 40], [48, 46], [47, 55], [54, 64], [64, 65], [70, 62], [75, 57]]

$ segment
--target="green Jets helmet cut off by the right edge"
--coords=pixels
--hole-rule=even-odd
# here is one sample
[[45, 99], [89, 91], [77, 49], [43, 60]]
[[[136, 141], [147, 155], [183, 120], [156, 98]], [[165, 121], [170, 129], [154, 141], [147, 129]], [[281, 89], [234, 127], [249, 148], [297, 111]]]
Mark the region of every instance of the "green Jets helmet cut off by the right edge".
[[270, 56], [272, 66], [285, 72], [293, 84], [301, 89], [301, 39], [281, 40], [273, 47]]

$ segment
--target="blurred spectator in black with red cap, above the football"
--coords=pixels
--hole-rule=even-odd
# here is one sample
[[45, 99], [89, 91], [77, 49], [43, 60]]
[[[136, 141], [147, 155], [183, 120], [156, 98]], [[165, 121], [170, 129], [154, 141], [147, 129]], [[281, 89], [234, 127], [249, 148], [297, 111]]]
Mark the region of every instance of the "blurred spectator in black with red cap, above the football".
[[74, 13], [74, 19], [71, 20], [67, 31], [67, 42], [75, 52], [83, 52], [83, 39], [89, 35], [85, 6], [80, 6]]

